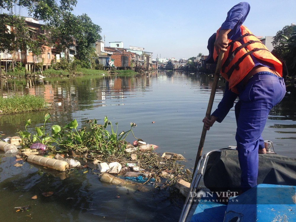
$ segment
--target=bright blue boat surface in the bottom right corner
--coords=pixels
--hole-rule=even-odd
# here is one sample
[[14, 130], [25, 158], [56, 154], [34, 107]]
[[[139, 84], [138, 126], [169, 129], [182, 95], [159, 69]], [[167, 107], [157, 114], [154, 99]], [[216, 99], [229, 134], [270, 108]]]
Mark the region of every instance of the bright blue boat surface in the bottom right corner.
[[296, 221], [296, 186], [258, 184], [227, 205], [217, 196], [203, 194], [192, 215], [192, 222], [271, 222]]

